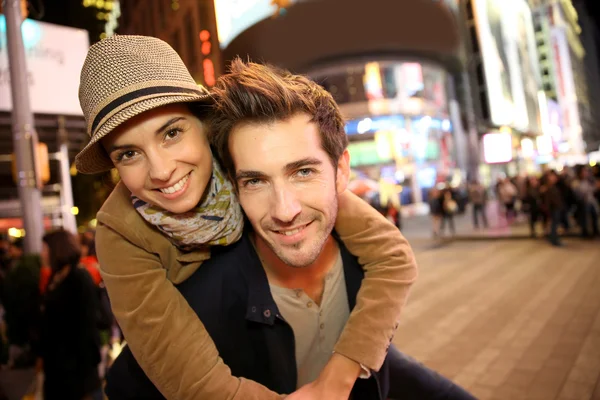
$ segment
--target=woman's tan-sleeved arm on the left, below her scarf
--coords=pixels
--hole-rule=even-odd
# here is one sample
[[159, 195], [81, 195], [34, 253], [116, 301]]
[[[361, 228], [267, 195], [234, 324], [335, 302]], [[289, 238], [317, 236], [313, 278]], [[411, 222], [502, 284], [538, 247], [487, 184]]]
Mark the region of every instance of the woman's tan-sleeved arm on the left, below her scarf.
[[146, 375], [167, 399], [280, 399], [231, 375], [158, 257], [99, 224], [96, 248], [113, 312]]

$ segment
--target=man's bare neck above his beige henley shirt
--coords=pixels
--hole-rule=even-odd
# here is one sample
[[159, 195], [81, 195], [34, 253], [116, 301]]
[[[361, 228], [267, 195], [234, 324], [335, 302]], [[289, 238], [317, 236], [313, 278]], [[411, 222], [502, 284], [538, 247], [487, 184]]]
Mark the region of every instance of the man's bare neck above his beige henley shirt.
[[254, 243], [271, 285], [288, 289], [302, 289], [317, 304], [321, 302], [325, 275], [334, 266], [338, 256], [338, 246], [331, 235], [325, 242], [317, 259], [312, 264], [302, 268], [285, 264], [256, 235], [254, 235]]

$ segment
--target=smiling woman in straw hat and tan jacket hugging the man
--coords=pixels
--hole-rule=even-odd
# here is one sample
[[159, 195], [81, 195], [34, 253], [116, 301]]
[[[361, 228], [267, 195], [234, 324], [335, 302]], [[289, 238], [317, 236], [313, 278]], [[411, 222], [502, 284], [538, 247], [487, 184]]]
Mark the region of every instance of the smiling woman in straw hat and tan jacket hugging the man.
[[[167, 398], [280, 398], [231, 376], [174, 287], [210, 257], [209, 246], [231, 244], [242, 232], [234, 188], [206, 137], [206, 90], [163, 41], [114, 36], [90, 48], [80, 102], [91, 141], [77, 156], [78, 170], [116, 167], [121, 177], [98, 213], [96, 249], [114, 315], [144, 372]], [[152, 126], [150, 110], [166, 123]], [[133, 142], [115, 145], [124, 133]], [[416, 278], [412, 251], [397, 228], [353, 195], [340, 196], [336, 229], [367, 277], [361, 313], [350, 317], [325, 370], [349, 360], [378, 369]], [[370, 317], [377, 309], [389, 313]], [[342, 378], [319, 378], [316, 387]]]

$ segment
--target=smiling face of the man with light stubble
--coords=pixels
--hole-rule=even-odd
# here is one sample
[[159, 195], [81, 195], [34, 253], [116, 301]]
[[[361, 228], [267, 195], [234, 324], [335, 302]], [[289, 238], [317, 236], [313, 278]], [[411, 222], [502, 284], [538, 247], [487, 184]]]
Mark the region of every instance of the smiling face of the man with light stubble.
[[306, 114], [239, 125], [229, 150], [240, 203], [257, 240], [289, 266], [312, 264], [333, 229], [337, 195], [348, 183], [348, 151], [334, 167]]

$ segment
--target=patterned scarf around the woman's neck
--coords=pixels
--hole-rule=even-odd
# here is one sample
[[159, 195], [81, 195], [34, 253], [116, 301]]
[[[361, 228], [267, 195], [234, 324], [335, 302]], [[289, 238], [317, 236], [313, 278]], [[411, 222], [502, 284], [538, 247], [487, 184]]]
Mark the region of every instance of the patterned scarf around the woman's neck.
[[138, 213], [182, 251], [235, 243], [244, 227], [242, 210], [233, 185], [214, 159], [209, 185], [204, 201], [182, 214], [163, 210], [133, 195], [131, 200]]

